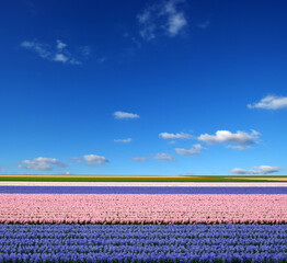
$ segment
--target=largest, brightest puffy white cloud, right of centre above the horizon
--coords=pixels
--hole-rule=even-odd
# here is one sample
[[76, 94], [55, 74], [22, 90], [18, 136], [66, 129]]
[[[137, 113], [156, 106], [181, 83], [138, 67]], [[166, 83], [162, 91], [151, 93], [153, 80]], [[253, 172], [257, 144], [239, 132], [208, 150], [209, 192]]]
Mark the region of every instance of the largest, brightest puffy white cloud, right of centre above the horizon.
[[228, 142], [236, 144], [234, 146], [227, 146], [228, 148], [248, 149], [251, 145], [256, 144], [256, 139], [259, 138], [259, 136], [260, 133], [254, 129], [252, 129], [250, 134], [241, 130], [238, 130], [234, 134], [229, 130], [217, 130], [216, 135], [203, 134], [197, 137], [197, 139], [209, 145]]

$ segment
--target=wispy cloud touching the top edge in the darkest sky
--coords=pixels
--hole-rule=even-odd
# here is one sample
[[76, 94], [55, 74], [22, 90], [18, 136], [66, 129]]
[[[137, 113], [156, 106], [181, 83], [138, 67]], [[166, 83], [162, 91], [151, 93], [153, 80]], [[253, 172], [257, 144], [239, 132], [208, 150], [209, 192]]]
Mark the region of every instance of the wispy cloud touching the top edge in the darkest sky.
[[180, 3], [185, 0], [168, 0], [146, 8], [137, 15], [139, 34], [145, 41], [151, 41], [158, 34], [170, 37], [179, 35], [187, 26], [187, 20]]

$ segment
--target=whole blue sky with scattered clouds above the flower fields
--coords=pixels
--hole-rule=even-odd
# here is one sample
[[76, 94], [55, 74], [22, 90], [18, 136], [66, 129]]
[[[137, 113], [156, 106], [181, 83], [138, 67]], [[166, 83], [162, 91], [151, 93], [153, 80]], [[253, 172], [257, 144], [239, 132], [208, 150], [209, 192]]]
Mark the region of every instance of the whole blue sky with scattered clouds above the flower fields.
[[0, 173], [286, 174], [286, 13], [1, 2]]

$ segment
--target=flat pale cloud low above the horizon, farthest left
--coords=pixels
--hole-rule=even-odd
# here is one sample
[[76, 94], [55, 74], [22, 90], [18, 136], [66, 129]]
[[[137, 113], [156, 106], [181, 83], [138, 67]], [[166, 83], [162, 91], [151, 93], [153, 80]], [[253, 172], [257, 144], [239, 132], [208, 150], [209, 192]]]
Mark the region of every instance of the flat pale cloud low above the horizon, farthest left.
[[45, 158], [45, 157], [38, 157], [32, 160], [24, 160], [21, 163], [22, 164], [19, 164], [18, 168], [32, 169], [32, 170], [44, 170], [44, 171], [53, 170], [54, 167], [59, 167], [59, 168], [67, 167], [66, 163], [60, 162], [56, 158]]

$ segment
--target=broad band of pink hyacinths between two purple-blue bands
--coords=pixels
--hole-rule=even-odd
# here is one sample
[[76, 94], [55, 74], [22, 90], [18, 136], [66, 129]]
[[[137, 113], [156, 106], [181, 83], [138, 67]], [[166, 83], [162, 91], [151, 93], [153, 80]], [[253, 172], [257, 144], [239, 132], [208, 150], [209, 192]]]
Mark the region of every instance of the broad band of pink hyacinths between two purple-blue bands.
[[287, 195], [0, 194], [0, 222], [286, 222]]

